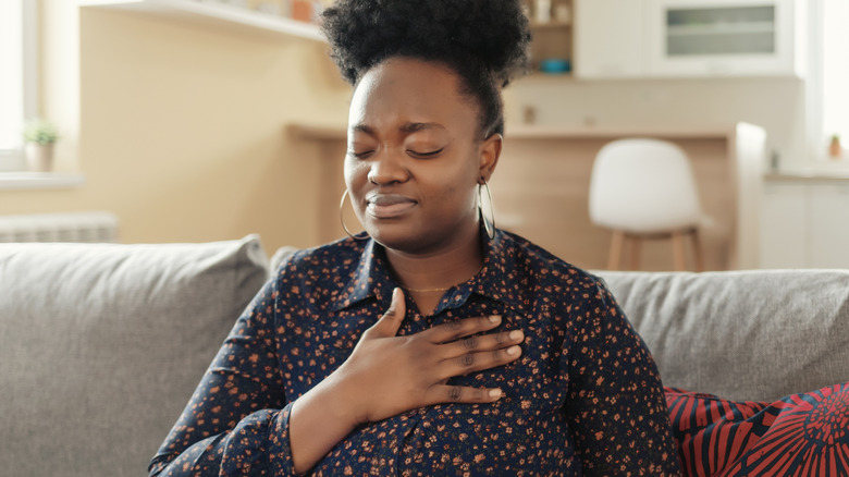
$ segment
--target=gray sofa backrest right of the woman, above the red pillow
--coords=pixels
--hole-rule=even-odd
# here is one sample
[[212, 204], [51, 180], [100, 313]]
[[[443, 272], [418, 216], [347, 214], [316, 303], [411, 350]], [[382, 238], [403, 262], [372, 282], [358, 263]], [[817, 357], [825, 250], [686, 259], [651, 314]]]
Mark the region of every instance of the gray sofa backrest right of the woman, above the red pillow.
[[849, 381], [849, 271], [594, 271], [665, 386], [773, 401]]

